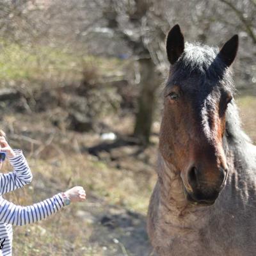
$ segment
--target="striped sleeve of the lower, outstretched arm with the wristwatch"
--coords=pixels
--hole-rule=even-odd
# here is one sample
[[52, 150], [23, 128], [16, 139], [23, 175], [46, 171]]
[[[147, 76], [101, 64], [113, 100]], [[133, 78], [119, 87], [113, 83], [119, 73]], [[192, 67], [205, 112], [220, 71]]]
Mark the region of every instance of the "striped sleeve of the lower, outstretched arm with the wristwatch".
[[28, 206], [15, 205], [0, 196], [0, 222], [23, 226], [44, 220], [62, 207], [64, 207], [64, 200], [61, 193]]

